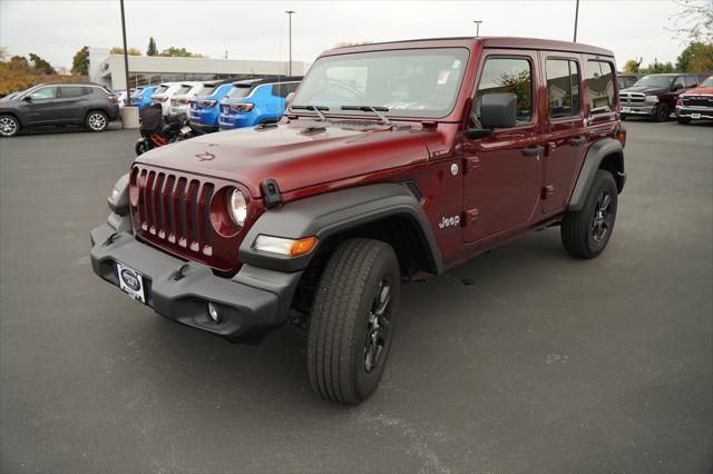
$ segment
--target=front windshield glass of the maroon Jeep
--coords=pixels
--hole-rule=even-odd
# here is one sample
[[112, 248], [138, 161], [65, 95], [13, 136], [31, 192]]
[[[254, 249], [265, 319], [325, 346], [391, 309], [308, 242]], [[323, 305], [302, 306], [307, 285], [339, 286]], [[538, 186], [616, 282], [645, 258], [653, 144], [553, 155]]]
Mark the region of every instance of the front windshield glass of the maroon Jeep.
[[326, 56], [312, 66], [292, 105], [369, 106], [393, 117], [442, 118], [456, 105], [467, 61], [465, 48]]

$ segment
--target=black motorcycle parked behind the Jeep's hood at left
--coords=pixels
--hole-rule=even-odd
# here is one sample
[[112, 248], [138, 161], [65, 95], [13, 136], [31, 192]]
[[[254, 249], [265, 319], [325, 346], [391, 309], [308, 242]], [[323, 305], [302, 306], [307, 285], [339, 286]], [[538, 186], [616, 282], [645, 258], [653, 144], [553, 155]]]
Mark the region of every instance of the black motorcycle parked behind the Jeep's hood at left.
[[187, 140], [204, 132], [191, 125], [185, 113], [163, 117], [160, 103], [139, 111], [139, 132], [134, 150], [136, 156], [175, 141]]

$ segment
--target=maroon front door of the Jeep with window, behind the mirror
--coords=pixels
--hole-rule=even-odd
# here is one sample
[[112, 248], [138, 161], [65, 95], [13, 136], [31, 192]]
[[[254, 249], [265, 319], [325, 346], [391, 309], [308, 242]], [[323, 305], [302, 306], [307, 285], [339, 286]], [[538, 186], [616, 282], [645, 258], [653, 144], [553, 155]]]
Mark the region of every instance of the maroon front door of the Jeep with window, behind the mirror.
[[517, 122], [463, 145], [463, 240], [478, 243], [515, 229], [539, 213], [545, 147], [538, 125], [537, 53], [486, 50], [473, 101], [472, 125], [479, 127], [479, 98], [517, 95]]

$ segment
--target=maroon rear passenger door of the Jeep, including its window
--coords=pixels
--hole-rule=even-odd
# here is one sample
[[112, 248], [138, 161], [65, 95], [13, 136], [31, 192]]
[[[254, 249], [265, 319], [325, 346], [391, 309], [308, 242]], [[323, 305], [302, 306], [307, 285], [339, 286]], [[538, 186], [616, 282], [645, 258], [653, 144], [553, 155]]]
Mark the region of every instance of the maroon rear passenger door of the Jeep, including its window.
[[580, 97], [579, 55], [540, 52], [547, 86], [547, 116], [543, 122], [545, 185], [543, 213], [564, 209], [582, 166], [587, 135]]

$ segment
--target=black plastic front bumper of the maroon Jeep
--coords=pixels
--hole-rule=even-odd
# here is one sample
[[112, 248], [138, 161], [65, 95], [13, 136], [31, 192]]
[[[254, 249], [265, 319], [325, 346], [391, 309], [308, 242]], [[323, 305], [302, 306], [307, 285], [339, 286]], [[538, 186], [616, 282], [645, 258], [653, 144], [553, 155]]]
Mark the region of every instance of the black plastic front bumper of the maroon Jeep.
[[[215, 276], [209, 267], [164, 254], [137, 240], [116, 215], [91, 230], [91, 268], [119, 286], [116, 263], [139, 271], [146, 303], [175, 322], [223, 336], [254, 342], [287, 318], [301, 271], [282, 273], [244, 265], [233, 278]], [[237, 251], [237, 250], [236, 250]], [[214, 323], [207, 303], [219, 308]]]

